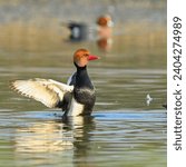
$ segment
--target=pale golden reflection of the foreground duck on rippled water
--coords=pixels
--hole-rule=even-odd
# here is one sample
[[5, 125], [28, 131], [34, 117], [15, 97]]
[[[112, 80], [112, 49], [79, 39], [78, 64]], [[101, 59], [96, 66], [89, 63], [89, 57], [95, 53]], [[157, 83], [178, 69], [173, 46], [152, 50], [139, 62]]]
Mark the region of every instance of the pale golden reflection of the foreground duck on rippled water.
[[[95, 129], [94, 118], [66, 117], [56, 120], [27, 122], [16, 130], [17, 153], [81, 151], [90, 140]], [[81, 141], [84, 148], [81, 148]], [[76, 148], [76, 149], [75, 149]], [[85, 151], [85, 150], [84, 150]], [[74, 155], [74, 153], [72, 153]]]

